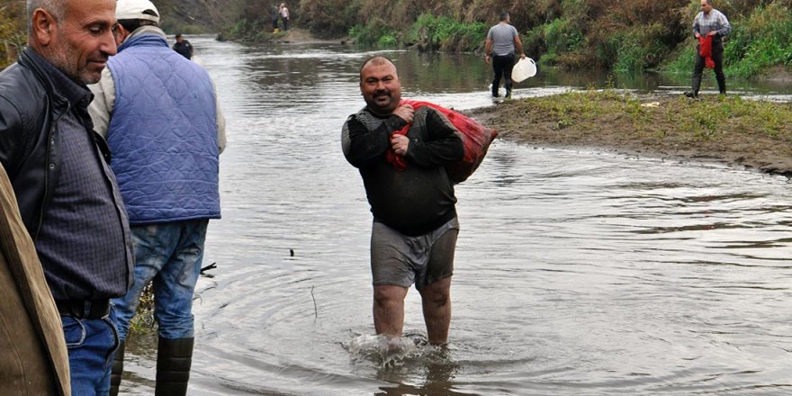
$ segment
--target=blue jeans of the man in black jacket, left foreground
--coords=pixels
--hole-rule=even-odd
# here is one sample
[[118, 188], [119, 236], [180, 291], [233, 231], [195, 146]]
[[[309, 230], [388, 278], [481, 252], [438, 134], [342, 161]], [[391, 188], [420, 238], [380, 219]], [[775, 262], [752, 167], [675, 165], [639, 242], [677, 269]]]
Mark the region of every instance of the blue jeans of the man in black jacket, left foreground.
[[109, 394], [112, 356], [118, 347], [114, 309], [111, 307], [110, 315], [102, 319], [63, 316], [60, 321], [68, 348], [72, 394]]

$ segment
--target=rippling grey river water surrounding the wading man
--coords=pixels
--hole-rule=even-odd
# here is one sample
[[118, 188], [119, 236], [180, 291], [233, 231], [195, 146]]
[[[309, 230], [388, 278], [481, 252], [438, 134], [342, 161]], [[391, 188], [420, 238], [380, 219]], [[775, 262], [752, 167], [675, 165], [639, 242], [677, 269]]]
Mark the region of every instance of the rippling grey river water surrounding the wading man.
[[[190, 394], [792, 392], [787, 179], [500, 140], [456, 188], [448, 347], [394, 365], [356, 358], [356, 339], [376, 339], [371, 214], [338, 138], [363, 105], [357, 71], [372, 53], [192, 41], [229, 148], [223, 219], [207, 238], [218, 268], [194, 302]], [[491, 103], [481, 58], [384, 53], [407, 95]], [[588, 85], [537, 77], [516, 94]], [[425, 334], [418, 293], [405, 305], [405, 332]], [[128, 353], [130, 394], [152, 392], [154, 346], [143, 344]]]

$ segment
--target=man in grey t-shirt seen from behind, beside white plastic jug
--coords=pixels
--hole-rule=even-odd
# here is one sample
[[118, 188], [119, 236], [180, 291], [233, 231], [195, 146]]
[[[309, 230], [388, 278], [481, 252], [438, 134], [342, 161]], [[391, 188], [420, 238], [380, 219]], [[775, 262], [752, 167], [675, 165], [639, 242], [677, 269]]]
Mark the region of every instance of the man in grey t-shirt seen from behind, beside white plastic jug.
[[506, 85], [506, 97], [511, 97], [511, 70], [517, 60], [516, 54], [520, 58], [525, 58], [523, 53], [523, 43], [519, 39], [517, 29], [510, 25], [509, 13], [500, 13], [500, 23], [492, 26], [487, 33], [487, 40], [484, 42], [484, 55], [487, 64], [492, 63], [492, 70], [495, 78], [492, 79], [492, 97], [498, 97], [500, 88], [500, 77], [503, 76], [503, 84]]

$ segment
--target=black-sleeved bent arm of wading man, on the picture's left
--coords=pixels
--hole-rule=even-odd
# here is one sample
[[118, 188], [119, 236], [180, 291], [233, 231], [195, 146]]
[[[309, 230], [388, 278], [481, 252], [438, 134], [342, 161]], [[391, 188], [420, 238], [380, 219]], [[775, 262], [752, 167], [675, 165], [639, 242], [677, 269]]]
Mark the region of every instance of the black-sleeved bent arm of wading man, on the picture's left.
[[391, 115], [375, 130], [368, 130], [365, 125], [350, 116], [342, 130], [342, 148], [352, 166], [369, 166], [382, 157], [388, 148], [391, 148], [391, 134], [401, 130], [407, 122], [398, 115]]

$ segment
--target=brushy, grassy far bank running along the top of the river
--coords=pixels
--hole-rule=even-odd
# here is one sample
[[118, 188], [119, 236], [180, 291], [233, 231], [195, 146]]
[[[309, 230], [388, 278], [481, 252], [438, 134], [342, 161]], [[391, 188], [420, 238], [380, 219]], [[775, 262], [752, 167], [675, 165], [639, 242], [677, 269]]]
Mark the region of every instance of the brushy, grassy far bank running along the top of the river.
[[[302, 0], [293, 26], [315, 36], [422, 50], [483, 50], [498, 14], [508, 11], [528, 56], [546, 66], [616, 70], [692, 68], [698, 0]], [[725, 64], [755, 76], [792, 66], [792, 0], [715, 0], [733, 31]], [[248, 3], [230, 39], [266, 40], [267, 6]]]

